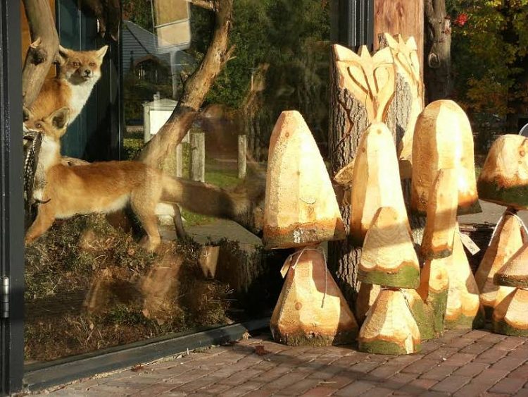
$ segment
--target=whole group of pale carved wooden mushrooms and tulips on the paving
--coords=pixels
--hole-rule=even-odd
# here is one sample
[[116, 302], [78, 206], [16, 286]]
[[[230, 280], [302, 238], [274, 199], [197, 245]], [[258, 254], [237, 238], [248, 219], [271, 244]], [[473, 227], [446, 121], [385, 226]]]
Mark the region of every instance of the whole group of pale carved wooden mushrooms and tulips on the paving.
[[[270, 322], [272, 334], [289, 345], [357, 338], [362, 351], [415, 353], [421, 341], [444, 329], [484, 326], [485, 307], [494, 331], [528, 336], [527, 232], [515, 215], [528, 208], [528, 143], [516, 135], [499, 138], [482, 169], [481, 198], [508, 209], [475, 279], [457, 223], [458, 214], [481, 211], [470, 122], [452, 101], [423, 109], [414, 39], [385, 35], [385, 41], [374, 56], [366, 47], [359, 54], [333, 47], [340, 84], [362, 101], [370, 123], [355, 159], [334, 177], [350, 186], [349, 225], [344, 225], [327, 168], [301, 114], [284, 111], [275, 124], [263, 243], [296, 251], [282, 267], [285, 281]], [[385, 117], [398, 74], [406, 78], [413, 100], [406, 134], [396, 148]], [[410, 177], [410, 210], [427, 215], [419, 249], [401, 188]], [[354, 245], [363, 245], [356, 317], [319, 246], [347, 233]]]

